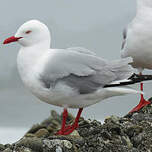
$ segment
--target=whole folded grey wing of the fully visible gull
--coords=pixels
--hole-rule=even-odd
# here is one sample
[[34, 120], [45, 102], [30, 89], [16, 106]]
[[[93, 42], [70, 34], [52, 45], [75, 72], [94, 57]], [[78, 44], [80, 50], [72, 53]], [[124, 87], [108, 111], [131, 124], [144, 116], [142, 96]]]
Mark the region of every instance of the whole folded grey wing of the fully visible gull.
[[[93, 55], [60, 51], [56, 52], [53, 60], [40, 75], [46, 88], [61, 82], [80, 94], [88, 94], [131, 74], [128, 59], [122, 59], [120, 64], [120, 61], [106, 62]], [[118, 73], [121, 75], [118, 76]]]

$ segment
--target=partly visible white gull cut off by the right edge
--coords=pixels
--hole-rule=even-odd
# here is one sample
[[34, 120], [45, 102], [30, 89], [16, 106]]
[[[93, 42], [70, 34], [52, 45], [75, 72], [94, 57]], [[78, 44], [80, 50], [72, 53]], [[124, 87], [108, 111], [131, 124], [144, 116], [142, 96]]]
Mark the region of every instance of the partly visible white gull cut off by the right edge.
[[[132, 66], [142, 75], [143, 70], [152, 69], [152, 0], [136, 0], [137, 13], [123, 33], [121, 57], [132, 57]], [[143, 91], [143, 83], [140, 84]], [[130, 112], [139, 111], [150, 104], [141, 94], [139, 104]]]

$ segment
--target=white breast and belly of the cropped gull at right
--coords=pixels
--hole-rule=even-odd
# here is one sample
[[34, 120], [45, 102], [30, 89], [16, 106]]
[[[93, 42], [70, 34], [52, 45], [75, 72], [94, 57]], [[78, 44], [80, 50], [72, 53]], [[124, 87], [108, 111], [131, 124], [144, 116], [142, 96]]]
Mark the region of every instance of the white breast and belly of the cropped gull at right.
[[152, 69], [152, 21], [136, 19], [127, 33], [124, 57], [133, 57], [133, 66]]

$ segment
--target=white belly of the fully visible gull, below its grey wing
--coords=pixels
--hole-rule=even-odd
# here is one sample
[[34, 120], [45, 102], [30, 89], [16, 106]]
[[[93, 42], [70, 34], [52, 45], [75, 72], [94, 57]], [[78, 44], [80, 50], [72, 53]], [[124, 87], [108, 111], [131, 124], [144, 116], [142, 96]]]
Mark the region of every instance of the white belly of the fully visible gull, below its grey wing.
[[34, 90], [31, 90], [32, 93], [40, 100], [55, 106], [69, 108], [84, 108], [109, 97], [105, 89], [101, 89], [100, 93], [94, 92], [83, 95], [63, 84], [59, 84], [53, 89], [40, 88]]

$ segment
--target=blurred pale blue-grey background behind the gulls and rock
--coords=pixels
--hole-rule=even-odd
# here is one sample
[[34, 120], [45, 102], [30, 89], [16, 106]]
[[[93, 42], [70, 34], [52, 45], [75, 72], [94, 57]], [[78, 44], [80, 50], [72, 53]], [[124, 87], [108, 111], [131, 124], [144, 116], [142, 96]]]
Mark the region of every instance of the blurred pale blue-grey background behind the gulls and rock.
[[[119, 59], [122, 31], [135, 12], [135, 0], [5, 0], [0, 5], [0, 41], [14, 35], [25, 21], [38, 19], [51, 30], [52, 48], [82, 46], [108, 60]], [[61, 113], [62, 108], [39, 101], [24, 88], [16, 68], [18, 44], [0, 47], [0, 143], [6, 143], [47, 118], [50, 110]], [[151, 84], [145, 86], [147, 98]], [[101, 121], [109, 115], [122, 116], [138, 100], [138, 95], [109, 98], [82, 115]], [[70, 110], [74, 115], [76, 111]]]

